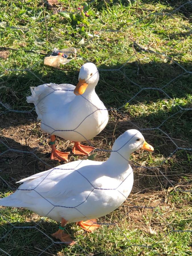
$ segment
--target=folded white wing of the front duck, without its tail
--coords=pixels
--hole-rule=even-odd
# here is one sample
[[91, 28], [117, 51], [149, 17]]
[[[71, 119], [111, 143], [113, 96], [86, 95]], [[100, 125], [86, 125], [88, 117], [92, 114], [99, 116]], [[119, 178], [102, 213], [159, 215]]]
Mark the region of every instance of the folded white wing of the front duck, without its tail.
[[[87, 179], [75, 170], [77, 165], [84, 161], [86, 165], [87, 160], [79, 160], [21, 179], [18, 183], [23, 184], [11, 196], [17, 195], [17, 198], [23, 198], [32, 205], [45, 199], [52, 205], [75, 207], [85, 201], [94, 189]], [[91, 166], [89, 171], [92, 171]]]

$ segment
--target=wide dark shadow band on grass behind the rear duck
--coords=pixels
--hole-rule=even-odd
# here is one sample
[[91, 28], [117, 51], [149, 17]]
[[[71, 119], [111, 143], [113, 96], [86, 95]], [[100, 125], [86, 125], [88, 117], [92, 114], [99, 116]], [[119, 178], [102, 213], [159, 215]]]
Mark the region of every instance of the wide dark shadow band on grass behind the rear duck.
[[[140, 103], [145, 101], [156, 102], [161, 98], [168, 98], [166, 94], [170, 98], [181, 98], [191, 93], [191, 74], [186, 73], [176, 63], [170, 63], [169, 60], [164, 63], [164, 58], [157, 57], [151, 60], [146, 55], [145, 61], [146, 59], [148, 59], [148, 63], [142, 63], [142, 59], [140, 59], [140, 62], [98, 66], [100, 80], [96, 86], [96, 93], [106, 107], [120, 107], [129, 101], [135, 103], [134, 96], [140, 90], [142, 90], [139, 94]], [[187, 71], [192, 70], [191, 62], [179, 64]], [[108, 69], [114, 70], [108, 71]], [[46, 68], [46, 75], [43, 77], [42, 69], [33, 72], [43, 82], [30, 72], [21, 75], [12, 73], [1, 77], [0, 100], [7, 108], [24, 111], [32, 110], [34, 105], [26, 102], [26, 96], [31, 94], [30, 86], [50, 82], [76, 85], [78, 82], [79, 71], [75, 69], [63, 71]], [[0, 106], [0, 110], [1, 112], [7, 111], [3, 106]]]

